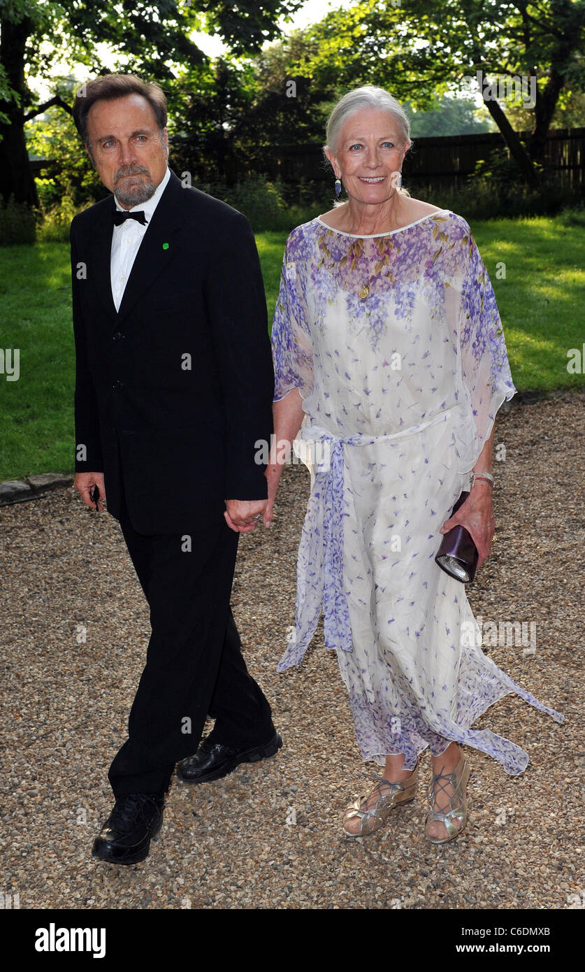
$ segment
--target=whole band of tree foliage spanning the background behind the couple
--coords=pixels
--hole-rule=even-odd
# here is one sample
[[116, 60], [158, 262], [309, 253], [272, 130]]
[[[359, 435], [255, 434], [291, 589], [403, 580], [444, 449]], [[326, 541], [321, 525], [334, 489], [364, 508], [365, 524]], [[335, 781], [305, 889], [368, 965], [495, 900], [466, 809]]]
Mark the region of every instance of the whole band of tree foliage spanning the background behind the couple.
[[[391, 90], [410, 112], [413, 134], [421, 135], [455, 133], [462, 125], [473, 130], [469, 103], [456, 97], [465, 78], [477, 72], [489, 81], [533, 78], [533, 109], [510, 98], [485, 101], [532, 187], [553, 121], [582, 121], [585, 0], [358, 0], [281, 35], [279, 17], [301, 5], [0, 0], [0, 193], [38, 203], [26, 156], [27, 123], [32, 151], [42, 155], [44, 143], [51, 157], [62, 159], [60, 174], [56, 166], [46, 173], [46, 196], [64, 186], [74, 198], [96, 191], [65, 117], [73, 76], [54, 77], [56, 61], [83, 65], [87, 77], [119, 69], [158, 81], [169, 99], [172, 159], [203, 181], [274, 171], [285, 147], [324, 141], [331, 106], [362, 84]], [[194, 30], [219, 34], [229, 52], [210, 60], [192, 41]], [[51, 87], [45, 102], [32, 79], [35, 87]], [[42, 127], [35, 125], [43, 112], [49, 114]], [[522, 140], [518, 132], [525, 130], [530, 134]]]

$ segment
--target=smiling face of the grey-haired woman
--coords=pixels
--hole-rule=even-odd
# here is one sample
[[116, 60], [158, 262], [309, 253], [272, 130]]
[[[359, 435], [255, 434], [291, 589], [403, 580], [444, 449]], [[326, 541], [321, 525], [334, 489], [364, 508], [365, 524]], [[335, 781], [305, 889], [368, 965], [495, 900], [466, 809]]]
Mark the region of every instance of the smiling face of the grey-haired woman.
[[348, 195], [379, 204], [396, 192], [396, 177], [408, 145], [394, 115], [364, 108], [347, 119], [337, 151], [327, 151], [327, 158]]

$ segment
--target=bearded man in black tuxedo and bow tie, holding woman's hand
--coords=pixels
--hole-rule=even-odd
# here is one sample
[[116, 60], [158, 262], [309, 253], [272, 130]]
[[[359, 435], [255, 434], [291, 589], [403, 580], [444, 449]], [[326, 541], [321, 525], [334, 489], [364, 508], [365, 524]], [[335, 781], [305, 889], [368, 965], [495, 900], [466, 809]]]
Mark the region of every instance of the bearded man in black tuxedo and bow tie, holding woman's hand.
[[92, 850], [130, 864], [160, 829], [177, 761], [204, 782], [282, 745], [229, 605], [239, 534], [270, 525], [255, 442], [273, 432], [274, 372], [250, 224], [168, 169], [161, 88], [100, 77], [74, 119], [114, 193], [71, 225], [75, 485], [97, 509], [107, 498], [151, 608], [109, 772], [116, 805]]

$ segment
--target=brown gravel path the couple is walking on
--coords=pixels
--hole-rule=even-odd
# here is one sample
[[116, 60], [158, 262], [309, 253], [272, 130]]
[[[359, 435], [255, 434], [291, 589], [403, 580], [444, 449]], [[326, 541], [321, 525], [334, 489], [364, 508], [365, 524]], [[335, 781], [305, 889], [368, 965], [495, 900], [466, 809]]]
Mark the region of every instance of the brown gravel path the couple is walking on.
[[508, 695], [475, 723], [523, 746], [530, 763], [508, 777], [467, 748], [469, 821], [443, 848], [423, 836], [428, 750], [415, 803], [370, 837], [342, 837], [343, 809], [377, 767], [361, 762], [323, 629], [300, 668], [275, 671], [293, 623], [309, 486], [307, 470], [292, 466], [272, 530], [240, 538], [232, 598], [283, 748], [205, 786], [175, 778], [150, 857], [126, 868], [93, 861], [112, 804], [108, 766], [143, 666], [147, 606], [117, 522], [72, 489], [2, 508], [0, 890], [19, 893], [20, 908], [568, 908], [585, 888], [584, 430], [581, 394], [499, 412], [497, 538], [469, 600], [484, 624], [535, 623], [534, 654], [516, 644], [489, 651], [566, 721]]

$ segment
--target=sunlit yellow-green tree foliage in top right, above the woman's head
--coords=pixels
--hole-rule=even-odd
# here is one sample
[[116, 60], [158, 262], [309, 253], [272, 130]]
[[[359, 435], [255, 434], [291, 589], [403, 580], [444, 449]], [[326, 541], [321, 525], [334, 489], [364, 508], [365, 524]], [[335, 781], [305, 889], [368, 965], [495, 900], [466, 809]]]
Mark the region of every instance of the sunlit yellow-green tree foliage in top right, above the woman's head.
[[[386, 87], [400, 102], [425, 109], [461, 90], [466, 78], [533, 78], [533, 110], [522, 109], [526, 144], [504, 99], [485, 105], [525, 180], [534, 185], [548, 130], [569, 95], [585, 90], [585, 0], [361, 0], [307, 31], [316, 53], [299, 61], [304, 77], [342, 90]], [[485, 95], [484, 95], [485, 98]], [[513, 104], [513, 103], [512, 103]], [[519, 109], [513, 105], [514, 121]], [[536, 164], [534, 164], [536, 163]]]

